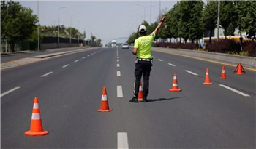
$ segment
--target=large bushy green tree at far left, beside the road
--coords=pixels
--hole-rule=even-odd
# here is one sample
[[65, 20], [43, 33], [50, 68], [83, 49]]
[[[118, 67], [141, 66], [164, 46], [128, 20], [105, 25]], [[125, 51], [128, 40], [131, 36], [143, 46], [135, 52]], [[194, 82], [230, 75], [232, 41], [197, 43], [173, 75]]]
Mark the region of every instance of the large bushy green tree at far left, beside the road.
[[10, 1], [8, 4], [3, 36], [9, 41], [14, 52], [15, 42], [29, 39], [37, 28], [38, 20], [37, 15], [33, 15], [32, 9], [22, 7], [18, 2]]

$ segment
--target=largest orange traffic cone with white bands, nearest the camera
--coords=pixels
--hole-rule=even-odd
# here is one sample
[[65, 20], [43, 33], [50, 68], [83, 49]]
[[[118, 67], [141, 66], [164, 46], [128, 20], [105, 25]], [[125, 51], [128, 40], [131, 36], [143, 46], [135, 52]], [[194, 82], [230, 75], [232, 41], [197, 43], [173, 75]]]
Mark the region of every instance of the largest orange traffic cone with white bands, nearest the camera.
[[34, 97], [34, 106], [32, 111], [30, 130], [25, 132], [25, 134], [29, 136], [42, 136], [49, 134], [49, 132], [42, 130], [42, 121], [40, 117], [39, 103], [37, 97]]

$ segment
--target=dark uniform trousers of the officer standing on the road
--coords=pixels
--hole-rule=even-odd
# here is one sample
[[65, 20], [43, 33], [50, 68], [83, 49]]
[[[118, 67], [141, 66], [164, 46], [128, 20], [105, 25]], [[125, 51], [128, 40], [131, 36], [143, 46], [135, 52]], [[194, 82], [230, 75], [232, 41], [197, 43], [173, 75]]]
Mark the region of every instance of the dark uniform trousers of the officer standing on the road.
[[148, 96], [149, 76], [151, 71], [151, 61], [138, 61], [135, 63], [135, 83], [133, 88], [133, 97], [138, 97], [140, 89], [140, 80], [143, 75], [143, 97]]

